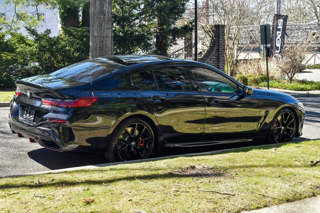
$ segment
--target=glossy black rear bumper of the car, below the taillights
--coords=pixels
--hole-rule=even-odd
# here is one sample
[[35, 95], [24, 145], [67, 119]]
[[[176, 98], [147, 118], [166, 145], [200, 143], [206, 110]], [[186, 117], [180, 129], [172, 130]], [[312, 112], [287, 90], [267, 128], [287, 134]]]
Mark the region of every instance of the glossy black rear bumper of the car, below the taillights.
[[[49, 118], [62, 119], [66, 123], [48, 121]], [[107, 149], [108, 137], [119, 123], [92, 115], [82, 108], [55, 108], [36, 123], [30, 123], [22, 118], [20, 105], [14, 101], [11, 102], [8, 122], [12, 133], [29, 138], [30, 142], [37, 142], [44, 148], [92, 153], [103, 153]]]

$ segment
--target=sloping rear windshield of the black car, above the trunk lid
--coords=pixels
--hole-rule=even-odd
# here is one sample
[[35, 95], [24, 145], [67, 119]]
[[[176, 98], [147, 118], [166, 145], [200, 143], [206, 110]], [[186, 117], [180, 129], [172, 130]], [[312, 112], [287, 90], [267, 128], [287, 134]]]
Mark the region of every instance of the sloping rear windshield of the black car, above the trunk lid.
[[106, 61], [85, 60], [63, 67], [57, 71], [50, 73], [50, 75], [58, 78], [88, 83], [100, 78], [103, 75], [124, 67], [124, 65]]

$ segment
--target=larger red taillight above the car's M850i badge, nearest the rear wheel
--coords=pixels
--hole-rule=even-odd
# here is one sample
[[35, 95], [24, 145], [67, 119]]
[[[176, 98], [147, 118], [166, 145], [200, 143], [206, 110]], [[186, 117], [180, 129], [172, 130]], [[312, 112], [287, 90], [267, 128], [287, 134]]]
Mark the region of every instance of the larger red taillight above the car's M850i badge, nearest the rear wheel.
[[96, 96], [80, 97], [77, 99], [48, 99], [43, 98], [42, 103], [47, 106], [57, 106], [63, 108], [87, 107], [96, 102], [99, 98]]

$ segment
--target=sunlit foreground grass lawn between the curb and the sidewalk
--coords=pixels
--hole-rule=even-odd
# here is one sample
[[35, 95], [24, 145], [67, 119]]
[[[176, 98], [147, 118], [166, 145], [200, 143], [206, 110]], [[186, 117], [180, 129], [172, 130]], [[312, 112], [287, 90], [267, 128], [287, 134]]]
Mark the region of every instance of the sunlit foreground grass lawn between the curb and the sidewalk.
[[[0, 179], [0, 212], [240, 212], [320, 195], [320, 141]], [[76, 159], [74, 159], [76, 160]], [[45, 183], [46, 182], [46, 183]], [[197, 190], [214, 190], [221, 193]]]

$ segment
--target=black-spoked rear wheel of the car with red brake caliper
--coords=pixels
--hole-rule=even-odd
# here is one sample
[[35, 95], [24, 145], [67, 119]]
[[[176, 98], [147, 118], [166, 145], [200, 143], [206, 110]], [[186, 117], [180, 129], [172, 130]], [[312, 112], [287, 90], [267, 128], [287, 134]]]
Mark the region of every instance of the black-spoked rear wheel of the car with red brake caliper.
[[109, 162], [145, 159], [154, 145], [151, 126], [140, 118], [129, 118], [114, 130], [105, 156]]

